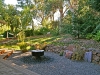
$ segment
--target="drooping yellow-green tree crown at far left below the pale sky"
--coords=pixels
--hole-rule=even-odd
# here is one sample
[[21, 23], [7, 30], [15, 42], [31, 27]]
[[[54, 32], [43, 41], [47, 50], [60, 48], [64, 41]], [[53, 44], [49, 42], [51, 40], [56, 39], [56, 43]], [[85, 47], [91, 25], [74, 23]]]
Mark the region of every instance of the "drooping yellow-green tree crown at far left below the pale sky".
[[11, 32], [15, 32], [19, 27], [19, 12], [13, 5], [6, 6], [5, 10], [5, 21], [7, 25], [11, 28]]

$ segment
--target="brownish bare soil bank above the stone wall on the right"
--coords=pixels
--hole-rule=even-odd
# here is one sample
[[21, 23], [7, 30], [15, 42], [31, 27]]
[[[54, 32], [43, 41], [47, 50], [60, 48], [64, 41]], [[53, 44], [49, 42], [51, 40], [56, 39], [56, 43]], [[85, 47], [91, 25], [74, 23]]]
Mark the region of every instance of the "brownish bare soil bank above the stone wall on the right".
[[73, 44], [80, 45], [81, 47], [85, 48], [95, 48], [97, 50], [100, 50], [100, 42], [95, 41], [93, 39], [76, 39], [69, 35], [66, 38], [58, 40], [57, 42], [63, 43], [65, 45]]

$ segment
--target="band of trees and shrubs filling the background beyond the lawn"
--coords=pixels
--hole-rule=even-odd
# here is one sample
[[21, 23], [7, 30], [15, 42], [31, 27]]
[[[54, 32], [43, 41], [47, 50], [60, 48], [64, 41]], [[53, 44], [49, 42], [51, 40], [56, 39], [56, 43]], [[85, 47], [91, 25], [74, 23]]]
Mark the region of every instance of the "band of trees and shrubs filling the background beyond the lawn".
[[[50, 32], [51, 35], [72, 34], [75, 38], [100, 41], [100, 0], [18, 2], [14, 6], [6, 5], [4, 0], [0, 0], [0, 34], [3, 36], [9, 31], [22, 42], [25, 37], [46, 35]], [[60, 16], [55, 21], [54, 14], [57, 11]], [[38, 25], [33, 19], [39, 22]]]

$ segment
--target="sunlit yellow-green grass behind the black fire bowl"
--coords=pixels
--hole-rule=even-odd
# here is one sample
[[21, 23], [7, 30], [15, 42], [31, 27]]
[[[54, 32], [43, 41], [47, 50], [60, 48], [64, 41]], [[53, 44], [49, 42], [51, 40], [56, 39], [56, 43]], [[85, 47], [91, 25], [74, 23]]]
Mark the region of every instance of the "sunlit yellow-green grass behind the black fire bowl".
[[[46, 42], [46, 44], [52, 44], [53, 42], [56, 42], [57, 40], [61, 39], [62, 36], [50, 36], [50, 37], [41, 37], [41, 36], [35, 36], [35, 37], [28, 37], [25, 39], [26, 43], [35, 45], [36, 43], [43, 44]], [[12, 42], [12, 41], [11, 41]], [[17, 43], [19, 43], [17, 40], [13, 40], [14, 43], [8, 42], [6, 44], [0, 44], [0, 48], [8, 48], [8, 49], [15, 49], [19, 50], [19, 46]], [[55, 43], [56, 44], [56, 43]], [[28, 47], [30, 48], [30, 47]]]

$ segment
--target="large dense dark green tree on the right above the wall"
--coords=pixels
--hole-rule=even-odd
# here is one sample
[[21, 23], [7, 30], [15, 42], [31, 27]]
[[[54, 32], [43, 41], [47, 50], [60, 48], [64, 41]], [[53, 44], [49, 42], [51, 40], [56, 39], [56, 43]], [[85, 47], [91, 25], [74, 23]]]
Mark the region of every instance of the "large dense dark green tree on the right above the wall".
[[[69, 22], [72, 26], [70, 31], [77, 38], [86, 37], [88, 33], [94, 33], [94, 29], [98, 29], [100, 24], [99, 12], [94, 10], [89, 0], [69, 0], [71, 14], [71, 21]], [[68, 16], [67, 15], [67, 16]], [[68, 19], [68, 18], [67, 18]]]

